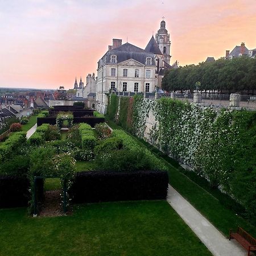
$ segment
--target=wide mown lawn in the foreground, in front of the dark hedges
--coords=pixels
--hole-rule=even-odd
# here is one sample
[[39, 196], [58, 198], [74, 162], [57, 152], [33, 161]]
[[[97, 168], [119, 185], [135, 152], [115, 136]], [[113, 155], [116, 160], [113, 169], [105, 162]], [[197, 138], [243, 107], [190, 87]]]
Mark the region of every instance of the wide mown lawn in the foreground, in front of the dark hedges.
[[77, 205], [72, 216], [0, 210], [0, 255], [211, 255], [166, 201]]

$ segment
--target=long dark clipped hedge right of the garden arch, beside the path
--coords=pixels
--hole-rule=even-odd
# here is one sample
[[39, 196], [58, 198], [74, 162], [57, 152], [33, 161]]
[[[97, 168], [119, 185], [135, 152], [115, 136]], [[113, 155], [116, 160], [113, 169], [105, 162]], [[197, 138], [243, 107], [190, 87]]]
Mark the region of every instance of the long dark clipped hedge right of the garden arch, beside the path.
[[73, 203], [166, 199], [166, 171], [78, 172], [71, 187]]

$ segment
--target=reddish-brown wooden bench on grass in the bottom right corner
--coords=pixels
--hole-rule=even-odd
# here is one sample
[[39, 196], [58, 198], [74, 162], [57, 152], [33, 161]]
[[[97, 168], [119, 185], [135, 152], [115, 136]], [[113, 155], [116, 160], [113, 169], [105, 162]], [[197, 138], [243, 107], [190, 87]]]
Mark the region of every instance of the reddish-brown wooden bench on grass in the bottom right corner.
[[256, 251], [256, 239], [240, 228], [240, 226], [238, 226], [236, 231], [234, 229], [229, 230], [229, 241], [232, 238], [236, 239], [247, 250], [247, 256], [254, 255], [250, 253]]

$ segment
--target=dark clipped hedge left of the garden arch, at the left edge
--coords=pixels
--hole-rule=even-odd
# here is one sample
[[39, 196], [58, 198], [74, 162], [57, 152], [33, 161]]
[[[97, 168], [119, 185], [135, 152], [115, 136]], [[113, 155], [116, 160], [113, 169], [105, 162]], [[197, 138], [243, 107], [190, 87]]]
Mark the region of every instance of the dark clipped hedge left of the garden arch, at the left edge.
[[0, 175], [0, 208], [26, 207], [30, 198], [26, 177]]

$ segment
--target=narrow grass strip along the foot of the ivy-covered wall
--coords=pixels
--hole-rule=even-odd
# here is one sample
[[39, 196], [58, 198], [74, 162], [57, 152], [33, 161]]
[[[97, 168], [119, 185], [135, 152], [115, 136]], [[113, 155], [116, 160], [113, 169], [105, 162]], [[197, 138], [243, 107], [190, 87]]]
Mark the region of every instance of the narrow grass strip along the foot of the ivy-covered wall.
[[[122, 129], [114, 122], [109, 121], [109, 126], [112, 129]], [[175, 162], [175, 160], [169, 158], [168, 156], [161, 156], [162, 152], [153, 148], [147, 142], [144, 142], [142, 139], [137, 139], [138, 143], [141, 146], [147, 147], [151, 152], [156, 154], [158, 158], [162, 159], [166, 163], [169, 172], [170, 184], [176, 189], [189, 203], [191, 203], [201, 214], [203, 214], [212, 224], [220, 230], [225, 236], [228, 236], [229, 229], [237, 228], [241, 226], [252, 236], [256, 237], [255, 226], [251, 225], [244, 218], [238, 216], [236, 212], [231, 209], [228, 209], [221, 201], [220, 197], [225, 195], [221, 194], [217, 189], [207, 188], [204, 181], [199, 182], [199, 177], [194, 179], [195, 181], [189, 179], [188, 176], [191, 172], [186, 172]], [[183, 170], [183, 171], [181, 171]], [[192, 176], [192, 175], [191, 175]], [[199, 184], [201, 185], [199, 185]], [[206, 189], [207, 188], [207, 189]], [[225, 200], [222, 200], [225, 201]]]

